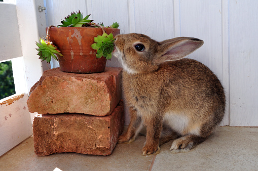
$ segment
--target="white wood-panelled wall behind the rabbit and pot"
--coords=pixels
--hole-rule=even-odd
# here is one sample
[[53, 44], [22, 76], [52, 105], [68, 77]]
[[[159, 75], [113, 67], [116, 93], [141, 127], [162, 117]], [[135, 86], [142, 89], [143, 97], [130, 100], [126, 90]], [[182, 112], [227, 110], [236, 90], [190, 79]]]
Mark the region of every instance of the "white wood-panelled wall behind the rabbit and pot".
[[[158, 41], [203, 39], [203, 47], [189, 58], [207, 65], [223, 83], [227, 111], [222, 125], [258, 126], [258, 1], [45, 0], [45, 5], [47, 26], [80, 9], [104, 25], [117, 21], [121, 33], [143, 33]], [[120, 66], [115, 58], [107, 65]]]

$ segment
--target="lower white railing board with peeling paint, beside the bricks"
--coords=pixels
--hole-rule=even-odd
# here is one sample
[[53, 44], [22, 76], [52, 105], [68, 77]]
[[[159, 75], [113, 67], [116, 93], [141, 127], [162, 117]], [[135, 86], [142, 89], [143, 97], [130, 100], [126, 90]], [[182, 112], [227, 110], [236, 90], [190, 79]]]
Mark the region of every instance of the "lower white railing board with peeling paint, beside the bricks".
[[0, 156], [32, 135], [27, 98], [23, 94], [0, 101]]

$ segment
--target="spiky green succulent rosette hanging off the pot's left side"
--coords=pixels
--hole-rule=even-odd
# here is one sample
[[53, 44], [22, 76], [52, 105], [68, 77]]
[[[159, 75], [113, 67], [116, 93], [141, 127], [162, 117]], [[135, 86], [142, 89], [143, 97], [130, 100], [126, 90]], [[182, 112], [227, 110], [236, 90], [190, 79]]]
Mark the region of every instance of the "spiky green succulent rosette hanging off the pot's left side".
[[52, 42], [45, 41], [42, 38], [40, 38], [40, 43], [36, 42], [36, 46], [39, 47], [39, 49], [36, 49], [39, 51], [37, 54], [40, 56], [39, 59], [42, 59], [42, 61], [47, 60], [47, 63], [51, 61], [51, 57], [53, 57], [55, 60], [58, 60], [54, 54], [63, 56], [60, 51], [52, 44]]

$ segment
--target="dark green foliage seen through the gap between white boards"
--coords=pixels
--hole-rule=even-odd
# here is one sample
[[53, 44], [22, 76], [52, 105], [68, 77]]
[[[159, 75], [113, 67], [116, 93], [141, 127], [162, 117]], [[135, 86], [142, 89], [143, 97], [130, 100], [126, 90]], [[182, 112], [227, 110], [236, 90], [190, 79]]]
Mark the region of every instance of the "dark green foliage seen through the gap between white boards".
[[12, 62], [0, 63], [0, 99], [15, 94]]

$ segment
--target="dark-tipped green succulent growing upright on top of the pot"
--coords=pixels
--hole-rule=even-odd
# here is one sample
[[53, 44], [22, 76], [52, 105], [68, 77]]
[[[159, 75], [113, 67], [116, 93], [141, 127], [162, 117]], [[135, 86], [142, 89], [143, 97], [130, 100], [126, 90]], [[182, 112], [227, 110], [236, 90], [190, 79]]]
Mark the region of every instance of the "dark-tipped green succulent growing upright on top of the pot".
[[71, 15], [61, 20], [62, 25], [58, 25], [60, 27], [82, 27], [84, 24], [90, 24], [93, 20], [88, 20], [90, 14], [83, 18], [83, 14], [80, 12], [78, 13], [71, 13]]

